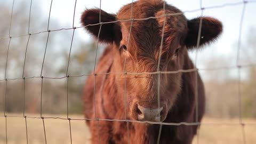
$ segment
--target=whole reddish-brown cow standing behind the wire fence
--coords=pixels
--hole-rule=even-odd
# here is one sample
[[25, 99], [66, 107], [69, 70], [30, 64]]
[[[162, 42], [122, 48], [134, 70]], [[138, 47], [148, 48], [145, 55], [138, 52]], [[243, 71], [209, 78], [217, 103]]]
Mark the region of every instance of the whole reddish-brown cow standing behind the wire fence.
[[[94, 37], [99, 37], [99, 42], [109, 44], [99, 60], [95, 75], [87, 79], [84, 89], [85, 117], [92, 119], [86, 121], [91, 130], [92, 143], [156, 143], [160, 125], [150, 122], [196, 122], [196, 92], [198, 122], [201, 121], [205, 94], [197, 71], [175, 74], [151, 72], [193, 69], [188, 50], [197, 49], [200, 19], [202, 32], [199, 46], [214, 41], [222, 31], [222, 24], [210, 17], [187, 20], [179, 9], [167, 3], [164, 11], [164, 3], [161, 0], [142, 0], [123, 6], [117, 14], [99, 9], [85, 10], [82, 14], [81, 21], [85, 28]], [[135, 19], [133, 21], [127, 20], [131, 14]], [[169, 15], [163, 17], [164, 14]], [[101, 22], [110, 23], [93, 25], [100, 22], [99, 16]], [[148, 17], [156, 18], [145, 20]], [[127, 74], [122, 74], [124, 71]], [[101, 73], [110, 74], [98, 75]], [[133, 121], [127, 124], [115, 120], [125, 118], [150, 122]], [[197, 127], [164, 124], [159, 143], [191, 143]]]

